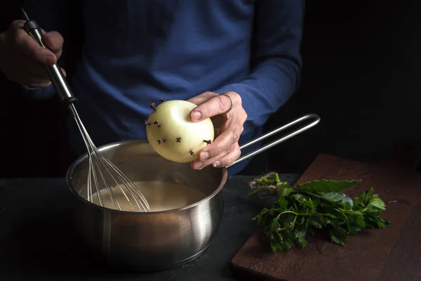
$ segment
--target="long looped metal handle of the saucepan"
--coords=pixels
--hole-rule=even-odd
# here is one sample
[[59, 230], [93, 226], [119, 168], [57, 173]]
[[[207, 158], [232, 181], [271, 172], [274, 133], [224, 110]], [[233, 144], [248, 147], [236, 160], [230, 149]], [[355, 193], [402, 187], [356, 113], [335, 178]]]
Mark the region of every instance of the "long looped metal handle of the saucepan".
[[299, 133], [302, 133], [303, 131], [306, 131], [307, 129], [312, 128], [312, 126], [316, 126], [316, 124], [320, 122], [319, 115], [315, 115], [315, 114], [304, 115], [298, 119], [295, 119], [293, 122], [290, 122], [288, 124], [280, 126], [279, 128], [269, 131], [268, 133], [265, 133], [264, 135], [258, 138], [255, 138], [254, 140], [251, 140], [248, 143], [244, 143], [243, 145], [241, 145], [240, 150], [242, 150], [243, 148], [247, 148], [248, 146], [253, 145], [255, 143], [258, 143], [259, 141], [262, 141], [265, 138], [269, 138], [269, 136], [273, 136], [274, 134], [279, 133], [280, 131], [288, 129], [290, 126], [294, 126], [307, 119], [314, 119], [314, 121], [305, 126], [302, 126], [300, 129], [297, 129], [293, 131], [292, 133], [288, 133], [286, 136], [278, 138], [277, 140], [272, 141], [271, 143], [268, 143], [267, 145], [262, 146], [261, 148], [257, 148], [256, 150], [253, 150], [252, 152], [248, 152], [246, 155], [243, 155], [239, 159], [236, 159], [236, 161], [234, 161], [232, 164], [225, 166], [225, 168], [229, 168], [231, 166], [234, 166], [235, 164], [239, 164], [239, 162], [242, 162], [250, 157], [258, 155], [260, 152], [264, 152], [265, 150], [268, 150], [269, 148], [272, 148], [275, 145], [278, 145], [279, 143], [282, 143], [283, 141], [286, 141], [289, 138], [292, 138], [293, 136], [297, 136]]

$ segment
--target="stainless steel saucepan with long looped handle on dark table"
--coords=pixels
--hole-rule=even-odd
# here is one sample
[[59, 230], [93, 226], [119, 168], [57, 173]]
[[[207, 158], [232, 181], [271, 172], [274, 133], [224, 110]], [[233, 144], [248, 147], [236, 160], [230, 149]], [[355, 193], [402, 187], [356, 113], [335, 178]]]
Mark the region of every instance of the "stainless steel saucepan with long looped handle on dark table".
[[[308, 122], [310, 120], [311, 122]], [[279, 127], [241, 148], [307, 121], [292, 133], [240, 157], [233, 166], [272, 148], [319, 123], [317, 115], [305, 115]], [[203, 254], [222, 221], [222, 188], [226, 168], [208, 166], [199, 171], [189, 163], [170, 162], [160, 157], [147, 141], [121, 141], [99, 148], [133, 182], [182, 183], [208, 195], [189, 206], [150, 213], [119, 211], [86, 200], [88, 157], [83, 155], [69, 166], [67, 185], [76, 196], [76, 227], [82, 239], [110, 265], [123, 270], [155, 271], [182, 266]]]

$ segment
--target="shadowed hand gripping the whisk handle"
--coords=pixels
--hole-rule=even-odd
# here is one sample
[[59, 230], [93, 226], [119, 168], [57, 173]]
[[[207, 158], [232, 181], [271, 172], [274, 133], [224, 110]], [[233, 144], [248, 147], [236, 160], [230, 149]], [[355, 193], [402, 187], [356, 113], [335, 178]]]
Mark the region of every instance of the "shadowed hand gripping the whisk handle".
[[25, 32], [24, 24], [25, 20], [15, 20], [6, 32], [0, 33], [0, 71], [18, 84], [48, 86], [51, 80], [45, 67], [57, 63], [62, 54], [63, 37], [58, 32], [41, 30], [48, 50]]

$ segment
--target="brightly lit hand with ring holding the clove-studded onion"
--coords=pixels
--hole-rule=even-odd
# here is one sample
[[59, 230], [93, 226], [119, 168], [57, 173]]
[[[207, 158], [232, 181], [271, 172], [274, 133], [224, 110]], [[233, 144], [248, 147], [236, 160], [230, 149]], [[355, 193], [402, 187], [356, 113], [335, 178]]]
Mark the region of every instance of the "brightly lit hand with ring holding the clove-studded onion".
[[241, 156], [238, 141], [241, 133], [243, 133], [243, 124], [247, 120], [247, 113], [243, 109], [241, 96], [231, 91], [221, 95], [205, 92], [190, 98], [188, 101], [198, 105], [190, 112], [193, 122], [199, 122], [210, 117], [222, 117], [219, 136], [217, 133], [215, 141], [199, 152], [198, 159], [192, 162], [192, 168], [203, 169], [210, 164], [222, 168], [232, 164]]

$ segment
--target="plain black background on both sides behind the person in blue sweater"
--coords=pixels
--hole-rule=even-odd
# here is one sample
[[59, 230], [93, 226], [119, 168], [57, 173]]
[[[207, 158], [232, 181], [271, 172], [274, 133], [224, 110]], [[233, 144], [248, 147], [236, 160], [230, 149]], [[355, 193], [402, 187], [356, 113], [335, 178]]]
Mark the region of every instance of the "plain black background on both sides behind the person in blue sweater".
[[[19, 4], [0, 0], [1, 31], [20, 16]], [[267, 169], [300, 172], [320, 152], [379, 161], [394, 141], [420, 138], [420, 6], [307, 1], [302, 84], [266, 127], [309, 112], [321, 123], [272, 148]], [[25, 100], [2, 76], [0, 94], [0, 177], [63, 176], [74, 158], [58, 100]]]

